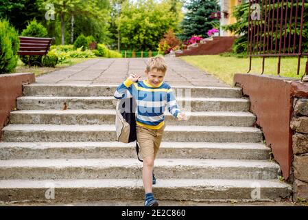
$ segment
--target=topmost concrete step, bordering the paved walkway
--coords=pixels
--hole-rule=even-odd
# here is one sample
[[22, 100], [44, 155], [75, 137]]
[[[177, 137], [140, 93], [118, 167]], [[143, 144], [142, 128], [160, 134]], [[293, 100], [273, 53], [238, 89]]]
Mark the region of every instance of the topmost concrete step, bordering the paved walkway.
[[[24, 96], [113, 96], [118, 85], [24, 85]], [[241, 88], [172, 87], [176, 95], [191, 97], [240, 98]]]

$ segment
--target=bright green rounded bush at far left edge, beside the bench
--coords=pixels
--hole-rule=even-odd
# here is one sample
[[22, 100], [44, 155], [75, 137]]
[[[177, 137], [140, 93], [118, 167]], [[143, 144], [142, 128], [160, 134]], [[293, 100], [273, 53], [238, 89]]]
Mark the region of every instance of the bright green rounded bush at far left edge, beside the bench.
[[12, 72], [18, 61], [18, 32], [6, 19], [0, 19], [0, 74]]

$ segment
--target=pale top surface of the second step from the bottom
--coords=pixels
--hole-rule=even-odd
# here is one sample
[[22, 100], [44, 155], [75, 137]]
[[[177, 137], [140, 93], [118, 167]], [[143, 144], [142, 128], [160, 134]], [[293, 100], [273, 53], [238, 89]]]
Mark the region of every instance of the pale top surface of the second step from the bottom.
[[[137, 159], [3, 159], [0, 160], [0, 168], [13, 167], [142, 167], [142, 163]], [[279, 168], [278, 164], [269, 160], [261, 159], [156, 159], [155, 168], [163, 166], [174, 166], [176, 168], [185, 166], [209, 167], [209, 168]]]

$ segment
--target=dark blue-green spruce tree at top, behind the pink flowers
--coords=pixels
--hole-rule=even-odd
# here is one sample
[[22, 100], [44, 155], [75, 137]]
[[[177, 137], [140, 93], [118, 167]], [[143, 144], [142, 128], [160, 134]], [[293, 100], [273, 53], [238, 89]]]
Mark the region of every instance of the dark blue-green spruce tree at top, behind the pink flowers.
[[206, 36], [206, 32], [213, 28], [211, 13], [219, 10], [215, 0], [191, 0], [185, 5], [187, 13], [181, 23], [182, 34], [179, 38], [189, 39], [194, 34]]

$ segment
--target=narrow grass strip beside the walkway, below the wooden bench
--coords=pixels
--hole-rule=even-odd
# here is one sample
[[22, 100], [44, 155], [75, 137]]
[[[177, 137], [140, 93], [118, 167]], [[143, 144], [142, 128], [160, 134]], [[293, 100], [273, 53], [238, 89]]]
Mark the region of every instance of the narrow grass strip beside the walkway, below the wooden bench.
[[91, 58], [70, 58], [67, 63], [58, 64], [56, 65], [55, 68], [53, 67], [28, 67], [19, 59], [17, 63], [17, 67], [14, 72], [15, 73], [34, 73], [35, 76], [40, 76], [43, 74], [47, 74], [49, 72], [54, 72], [64, 67], [69, 67], [71, 65], [81, 63], [83, 61], [87, 61], [88, 59], [91, 59]]

